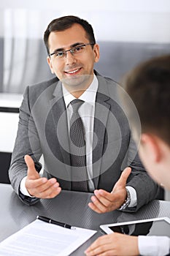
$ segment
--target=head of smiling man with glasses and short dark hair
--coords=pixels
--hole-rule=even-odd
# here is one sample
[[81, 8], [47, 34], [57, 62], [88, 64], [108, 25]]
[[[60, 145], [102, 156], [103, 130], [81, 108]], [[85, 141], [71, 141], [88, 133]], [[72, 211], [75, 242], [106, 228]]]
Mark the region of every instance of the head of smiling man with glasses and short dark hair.
[[92, 26], [73, 15], [56, 18], [47, 26], [44, 42], [51, 72], [74, 97], [80, 97], [90, 86], [99, 59]]

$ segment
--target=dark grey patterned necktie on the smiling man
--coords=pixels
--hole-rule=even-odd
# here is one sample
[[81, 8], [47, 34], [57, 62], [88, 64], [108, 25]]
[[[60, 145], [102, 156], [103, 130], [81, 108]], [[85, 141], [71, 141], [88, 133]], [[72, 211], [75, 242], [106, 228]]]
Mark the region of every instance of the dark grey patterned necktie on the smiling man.
[[72, 118], [70, 120], [70, 152], [72, 165], [72, 190], [88, 192], [87, 168], [85, 156], [85, 138], [82, 119], [78, 113], [83, 101], [74, 99]]

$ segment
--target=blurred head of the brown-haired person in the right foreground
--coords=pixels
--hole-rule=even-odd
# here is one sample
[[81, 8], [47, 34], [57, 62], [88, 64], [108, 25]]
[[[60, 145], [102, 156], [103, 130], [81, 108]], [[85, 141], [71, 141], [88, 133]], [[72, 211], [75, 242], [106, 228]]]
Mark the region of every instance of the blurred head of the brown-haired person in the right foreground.
[[[141, 120], [142, 162], [158, 183], [170, 189], [170, 55], [139, 64], [125, 76], [123, 86]], [[133, 115], [129, 118], [135, 130]]]

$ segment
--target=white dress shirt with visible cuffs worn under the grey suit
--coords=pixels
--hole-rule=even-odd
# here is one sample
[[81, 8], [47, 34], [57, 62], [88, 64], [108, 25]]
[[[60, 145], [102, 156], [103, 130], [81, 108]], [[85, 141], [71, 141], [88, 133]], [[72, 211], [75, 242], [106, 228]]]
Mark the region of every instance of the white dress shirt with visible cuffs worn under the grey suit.
[[[72, 102], [73, 99], [76, 99], [62, 84], [63, 90], [63, 99], [66, 105], [67, 118], [68, 118], [68, 126], [70, 123], [70, 119], [72, 117]], [[87, 163], [87, 171], [88, 171], [88, 187], [90, 192], [93, 192], [95, 189], [93, 184], [93, 124], [94, 124], [94, 113], [95, 113], [95, 102], [96, 102], [96, 93], [98, 90], [98, 79], [96, 75], [93, 75], [93, 81], [84, 91], [84, 93], [79, 97], [79, 99], [83, 100], [84, 103], [80, 106], [78, 112], [80, 117], [82, 118], [82, 124], [85, 128], [85, 142], [86, 142], [86, 163]], [[68, 127], [69, 128], [69, 127]], [[20, 192], [23, 195], [29, 195], [26, 186], [26, 177], [20, 182]], [[131, 202], [128, 207], [134, 207], [137, 204], [137, 196], [136, 190], [133, 187], [126, 187], [131, 195]]]

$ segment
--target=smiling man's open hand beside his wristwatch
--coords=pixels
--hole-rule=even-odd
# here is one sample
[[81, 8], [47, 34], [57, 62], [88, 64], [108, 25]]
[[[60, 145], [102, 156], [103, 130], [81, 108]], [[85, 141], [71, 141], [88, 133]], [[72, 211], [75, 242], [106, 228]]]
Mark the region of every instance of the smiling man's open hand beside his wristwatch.
[[111, 193], [105, 191], [104, 189], [94, 190], [94, 195], [90, 198], [92, 202], [88, 203], [88, 206], [98, 214], [103, 214], [105, 212], [114, 211], [115, 209], [120, 208], [127, 197], [125, 185], [130, 173], [131, 168], [126, 167]]

